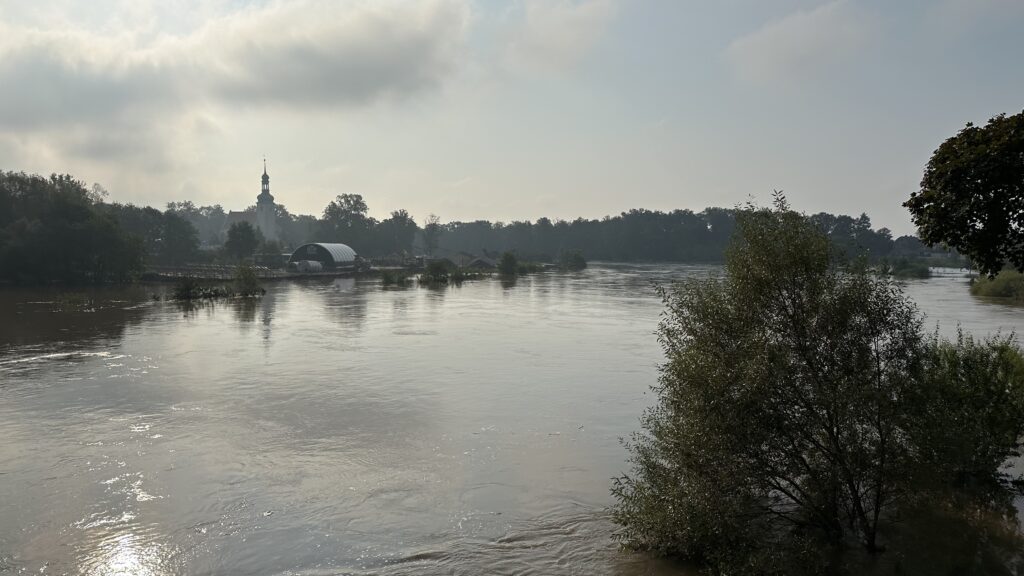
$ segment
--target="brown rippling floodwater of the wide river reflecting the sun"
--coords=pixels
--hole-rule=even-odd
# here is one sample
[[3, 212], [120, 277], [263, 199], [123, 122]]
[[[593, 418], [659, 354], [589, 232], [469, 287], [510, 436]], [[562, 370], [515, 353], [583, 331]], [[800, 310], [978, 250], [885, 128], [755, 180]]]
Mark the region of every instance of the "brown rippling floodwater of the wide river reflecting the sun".
[[[709, 274], [0, 291], [0, 573], [685, 573], [605, 510], [662, 360], [652, 285]], [[1024, 328], [957, 276], [906, 291], [944, 334]]]

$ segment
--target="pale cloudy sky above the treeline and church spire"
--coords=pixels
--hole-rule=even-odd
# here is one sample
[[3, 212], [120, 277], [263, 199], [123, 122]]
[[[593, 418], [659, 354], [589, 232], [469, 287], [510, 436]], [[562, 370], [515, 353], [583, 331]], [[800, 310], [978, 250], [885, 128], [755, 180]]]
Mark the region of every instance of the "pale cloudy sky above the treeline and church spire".
[[967, 122], [1024, 110], [1024, 0], [0, 0], [0, 169], [419, 221], [773, 190], [913, 232]]

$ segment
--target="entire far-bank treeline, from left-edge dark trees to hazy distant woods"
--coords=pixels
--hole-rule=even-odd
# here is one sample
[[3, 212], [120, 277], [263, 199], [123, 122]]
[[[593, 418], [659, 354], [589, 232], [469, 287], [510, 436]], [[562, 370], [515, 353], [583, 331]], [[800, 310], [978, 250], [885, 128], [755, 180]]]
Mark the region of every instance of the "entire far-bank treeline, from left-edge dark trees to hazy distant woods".
[[[579, 252], [587, 260], [717, 262], [737, 213], [637, 209], [601, 219], [446, 224], [431, 215], [420, 225], [406, 210], [374, 218], [361, 196], [343, 194], [319, 217], [292, 214], [278, 205], [281, 241], [256, 238], [240, 251], [223, 247], [226, 213], [219, 205], [172, 202], [160, 211], [108, 203], [105, 195], [100, 187], [88, 189], [70, 175], [0, 172], [0, 281], [122, 282], [146, 265], [238, 261], [306, 242], [341, 242], [369, 258], [457, 252], [497, 258], [512, 252], [525, 260], [557, 261]], [[914, 237], [894, 239], [887, 229], [872, 229], [865, 214], [820, 213], [811, 219], [851, 256], [866, 254], [879, 261], [930, 253]]]

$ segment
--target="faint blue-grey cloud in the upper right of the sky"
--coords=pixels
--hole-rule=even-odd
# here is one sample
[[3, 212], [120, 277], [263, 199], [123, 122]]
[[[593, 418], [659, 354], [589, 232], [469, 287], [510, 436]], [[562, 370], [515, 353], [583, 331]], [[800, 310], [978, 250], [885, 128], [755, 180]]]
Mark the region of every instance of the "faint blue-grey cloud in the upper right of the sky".
[[802, 86], [842, 75], [874, 35], [873, 16], [848, 0], [771, 20], [732, 41], [726, 60], [741, 82]]

